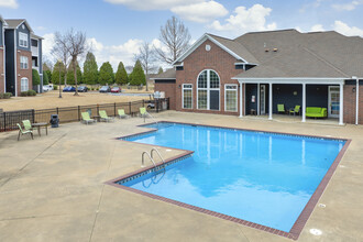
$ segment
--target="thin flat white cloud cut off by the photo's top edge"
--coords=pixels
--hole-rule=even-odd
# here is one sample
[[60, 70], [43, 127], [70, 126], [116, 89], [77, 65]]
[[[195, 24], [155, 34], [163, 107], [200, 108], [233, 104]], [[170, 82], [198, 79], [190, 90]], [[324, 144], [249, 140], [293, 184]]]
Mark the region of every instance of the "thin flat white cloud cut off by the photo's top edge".
[[205, 0], [105, 0], [113, 4], [123, 4], [135, 10], [167, 10], [178, 6], [188, 6]]

